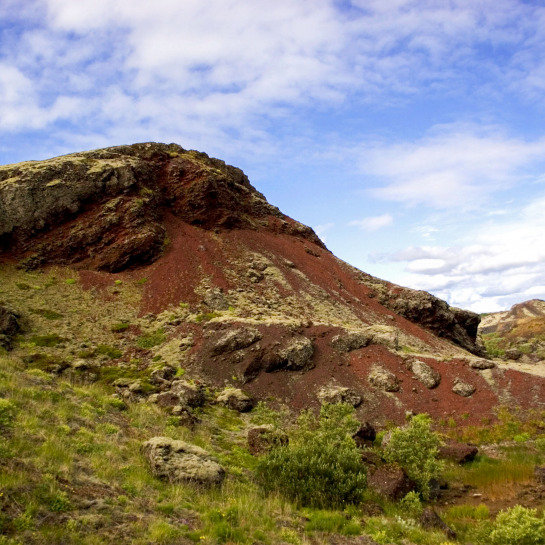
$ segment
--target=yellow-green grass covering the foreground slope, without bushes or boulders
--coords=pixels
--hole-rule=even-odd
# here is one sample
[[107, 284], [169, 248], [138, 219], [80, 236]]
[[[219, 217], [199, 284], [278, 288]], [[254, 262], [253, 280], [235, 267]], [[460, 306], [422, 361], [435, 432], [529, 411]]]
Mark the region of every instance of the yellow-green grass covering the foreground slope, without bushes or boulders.
[[[138, 281], [120, 283], [112, 276], [104, 298], [82, 290], [68, 269], [0, 272], [0, 302], [20, 311], [25, 326], [16, 349], [0, 354], [0, 544], [303, 544], [327, 543], [329, 532], [366, 532], [379, 543], [445, 542], [442, 533], [422, 530], [403, 506], [371, 495], [384, 516], [365, 516], [360, 507], [342, 513], [298, 509], [264, 496], [253, 482], [256, 461], [245, 439], [259, 411], [239, 415], [208, 404], [190, 430], [155, 405], [120, 400], [111, 385], [115, 378], [145, 381], [146, 367], [168, 357], [168, 320], [195, 320], [183, 306], [150, 321], [137, 317]], [[120, 353], [130, 356], [121, 367], [112, 359]], [[58, 374], [82, 361], [81, 370], [67, 367]], [[520, 420], [509, 422], [494, 439], [513, 439], [516, 431], [527, 434], [517, 443], [524, 444], [542, 433], [538, 416], [522, 430]], [[140, 445], [157, 435], [212, 452], [227, 469], [224, 485], [204, 489], [153, 478]], [[543, 463], [543, 456], [516, 455], [524, 466], [516, 478], [531, 480], [533, 464]], [[499, 482], [501, 490], [507, 483], [512, 459], [499, 462], [500, 471], [489, 464], [496, 472], [490, 486]], [[449, 466], [449, 479], [485, 478], [491, 473], [486, 460], [468, 469]], [[461, 542], [485, 540], [485, 507], [452, 508], [445, 516]]]

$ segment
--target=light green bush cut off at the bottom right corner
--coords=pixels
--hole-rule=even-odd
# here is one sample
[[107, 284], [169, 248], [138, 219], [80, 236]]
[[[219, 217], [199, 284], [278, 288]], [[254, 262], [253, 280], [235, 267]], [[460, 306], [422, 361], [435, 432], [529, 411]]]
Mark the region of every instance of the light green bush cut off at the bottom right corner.
[[545, 545], [545, 516], [522, 505], [501, 511], [490, 540], [493, 545]]

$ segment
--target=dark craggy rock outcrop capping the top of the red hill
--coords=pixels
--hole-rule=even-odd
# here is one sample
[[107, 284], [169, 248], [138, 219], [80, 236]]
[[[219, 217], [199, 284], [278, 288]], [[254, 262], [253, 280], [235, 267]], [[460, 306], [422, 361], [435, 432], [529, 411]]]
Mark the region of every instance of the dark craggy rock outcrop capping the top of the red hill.
[[114, 272], [154, 261], [167, 211], [204, 229], [267, 229], [273, 216], [287, 233], [323, 247], [310, 228], [267, 203], [240, 169], [176, 144], [0, 167], [0, 210], [0, 252], [26, 256], [28, 267], [80, 263]]

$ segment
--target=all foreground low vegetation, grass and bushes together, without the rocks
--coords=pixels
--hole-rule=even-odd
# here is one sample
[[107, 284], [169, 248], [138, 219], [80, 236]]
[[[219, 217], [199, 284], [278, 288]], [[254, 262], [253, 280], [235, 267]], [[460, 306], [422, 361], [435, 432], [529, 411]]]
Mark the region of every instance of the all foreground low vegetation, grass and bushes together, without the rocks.
[[[540, 411], [504, 409], [474, 427], [416, 415], [383, 430], [367, 450], [418, 485], [387, 500], [367, 486], [349, 406], [295, 415], [270, 400], [240, 414], [205, 388], [194, 423], [143, 400], [159, 391], [152, 373], [171, 362], [169, 323], [220, 313], [181, 304], [147, 320], [135, 304], [142, 280], [112, 282], [97, 301], [71, 271], [2, 273], [0, 301], [21, 309], [24, 330], [13, 352], [0, 353], [0, 545], [325, 545], [359, 535], [384, 545], [545, 544], [542, 506], [517, 495], [536, 486], [534, 468], [545, 463]], [[175, 376], [187, 379], [182, 363]], [[119, 380], [137, 383], [140, 400], [124, 397]], [[278, 440], [253, 456], [247, 433], [258, 425]], [[223, 484], [155, 478], [141, 452], [154, 436], [210, 452], [226, 470]], [[447, 437], [486, 447], [464, 466], [443, 464], [437, 449]], [[434, 479], [469, 492], [443, 505]], [[456, 537], [422, 526], [430, 506]]]

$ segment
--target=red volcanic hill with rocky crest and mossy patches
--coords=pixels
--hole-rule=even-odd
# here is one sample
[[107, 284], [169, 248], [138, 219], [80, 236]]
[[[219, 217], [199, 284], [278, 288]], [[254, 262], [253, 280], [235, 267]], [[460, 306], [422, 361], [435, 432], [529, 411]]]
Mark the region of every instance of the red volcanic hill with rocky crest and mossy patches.
[[[138, 286], [134, 323], [102, 365], [183, 366], [298, 408], [348, 399], [375, 422], [409, 410], [479, 422], [545, 398], [543, 379], [484, 357], [478, 315], [351, 267], [241, 170], [175, 144], [0, 167], [0, 263], [10, 278], [75, 270], [112, 309], [112, 286]], [[28, 301], [16, 308], [27, 332]]]

